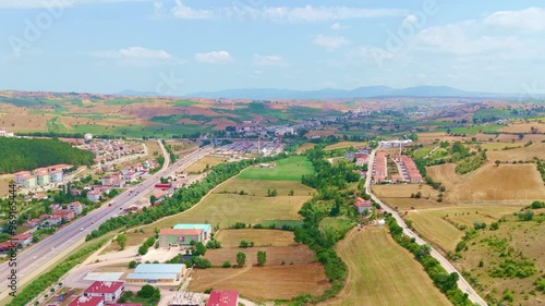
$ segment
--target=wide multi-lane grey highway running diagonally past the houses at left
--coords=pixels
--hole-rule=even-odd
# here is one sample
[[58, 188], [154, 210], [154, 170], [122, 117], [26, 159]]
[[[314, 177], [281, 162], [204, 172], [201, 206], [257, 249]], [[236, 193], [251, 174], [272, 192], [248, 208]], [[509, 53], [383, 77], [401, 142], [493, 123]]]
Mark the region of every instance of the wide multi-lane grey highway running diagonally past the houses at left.
[[[165, 147], [158, 140], [162, 154], [165, 156], [165, 163], [161, 170], [152, 175], [149, 179], [143, 183], [126, 189], [124, 193], [117, 196], [113, 200], [104, 204], [100, 208], [95, 209], [87, 213], [87, 216], [78, 218], [63, 228], [59, 229], [55, 234], [46, 237], [45, 240], [38, 242], [37, 244], [26, 247], [17, 254], [16, 257], [16, 277], [17, 286], [21, 287], [25, 280], [25, 277], [34, 273], [36, 269], [44, 270], [52, 265], [55, 258], [59, 253], [73, 246], [73, 244], [80, 244], [83, 242], [85, 236], [89, 234], [93, 230], [98, 229], [98, 227], [110, 219], [119, 215], [124, 208], [129, 208], [131, 205], [136, 203], [141, 197], [145, 196], [148, 192], [154, 188], [154, 185], [159, 181], [161, 176], [168, 176], [173, 174], [180, 168], [186, 168], [194, 163], [196, 160], [208, 155], [213, 148], [211, 146], [203, 147], [196, 151], [181, 158], [174, 164], [169, 166], [170, 157], [166, 151]], [[131, 192], [132, 191], [132, 192]], [[112, 203], [111, 206], [109, 204]], [[0, 301], [8, 296], [11, 291], [8, 289], [8, 277], [10, 277], [10, 270], [13, 267], [8, 266], [8, 261], [0, 265]]]

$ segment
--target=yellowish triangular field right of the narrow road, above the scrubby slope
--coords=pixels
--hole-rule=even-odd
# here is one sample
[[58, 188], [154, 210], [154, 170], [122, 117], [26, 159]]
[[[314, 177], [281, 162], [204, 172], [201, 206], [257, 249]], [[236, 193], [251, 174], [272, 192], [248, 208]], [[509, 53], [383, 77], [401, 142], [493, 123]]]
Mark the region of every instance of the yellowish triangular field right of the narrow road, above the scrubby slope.
[[427, 241], [440, 246], [446, 253], [453, 252], [464, 235], [464, 231], [459, 230], [456, 224], [467, 225], [469, 229], [473, 227], [474, 221], [491, 224], [520, 209], [521, 206], [518, 205], [460, 205], [417, 209], [404, 218], [411, 220], [414, 229]]

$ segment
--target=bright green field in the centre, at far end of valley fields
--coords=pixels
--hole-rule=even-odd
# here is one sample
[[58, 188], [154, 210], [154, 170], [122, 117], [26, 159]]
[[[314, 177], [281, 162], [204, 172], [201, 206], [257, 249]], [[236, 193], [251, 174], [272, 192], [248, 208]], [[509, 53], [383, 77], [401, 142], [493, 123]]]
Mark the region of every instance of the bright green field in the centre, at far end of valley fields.
[[290, 157], [276, 161], [275, 168], [252, 167], [238, 178], [267, 181], [301, 181], [302, 175], [312, 173], [314, 173], [314, 168], [306, 157]]

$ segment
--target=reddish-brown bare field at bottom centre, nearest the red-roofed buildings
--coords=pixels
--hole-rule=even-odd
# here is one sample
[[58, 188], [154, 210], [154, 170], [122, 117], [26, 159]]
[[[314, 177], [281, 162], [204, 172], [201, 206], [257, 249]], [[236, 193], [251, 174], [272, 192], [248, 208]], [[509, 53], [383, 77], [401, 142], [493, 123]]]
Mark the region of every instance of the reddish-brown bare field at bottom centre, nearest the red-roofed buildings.
[[317, 262], [195, 271], [190, 291], [203, 292], [209, 287], [237, 290], [252, 301], [267, 301], [290, 299], [303, 294], [319, 296], [329, 289], [329, 282], [324, 267]]

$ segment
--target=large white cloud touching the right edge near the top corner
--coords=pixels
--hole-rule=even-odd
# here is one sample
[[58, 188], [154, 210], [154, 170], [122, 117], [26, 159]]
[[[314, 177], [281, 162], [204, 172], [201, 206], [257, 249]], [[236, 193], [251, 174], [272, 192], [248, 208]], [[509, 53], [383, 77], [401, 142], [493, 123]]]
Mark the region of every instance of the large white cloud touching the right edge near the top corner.
[[485, 25], [525, 32], [545, 30], [545, 10], [528, 8], [521, 11], [499, 11], [484, 19]]

